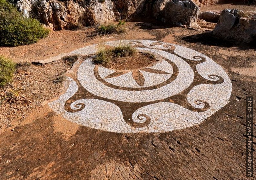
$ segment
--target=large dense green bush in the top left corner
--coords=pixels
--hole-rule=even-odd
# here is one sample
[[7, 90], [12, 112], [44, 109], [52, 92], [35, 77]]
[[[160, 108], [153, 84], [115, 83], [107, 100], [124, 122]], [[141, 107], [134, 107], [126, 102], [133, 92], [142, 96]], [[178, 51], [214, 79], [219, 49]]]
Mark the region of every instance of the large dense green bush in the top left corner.
[[37, 42], [45, 38], [49, 30], [33, 18], [22, 13], [6, 0], [0, 0], [0, 45], [19, 46]]

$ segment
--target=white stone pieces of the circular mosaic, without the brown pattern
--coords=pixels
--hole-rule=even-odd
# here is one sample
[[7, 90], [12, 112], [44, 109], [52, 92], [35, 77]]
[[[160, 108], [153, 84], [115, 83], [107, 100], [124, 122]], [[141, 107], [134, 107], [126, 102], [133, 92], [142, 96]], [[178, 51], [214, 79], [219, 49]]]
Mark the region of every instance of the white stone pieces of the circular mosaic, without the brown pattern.
[[[148, 68], [161, 70], [166, 72], [166, 74], [157, 74], [140, 70], [145, 79], [144, 85], [140, 86], [133, 79], [132, 71], [127, 71], [127, 73], [121, 76], [105, 78], [106, 76], [114, 73], [115, 70], [98, 66], [99, 76], [108, 84], [136, 89], [123, 90], [120, 88], [113, 88], [112, 86], [102, 83], [95, 77], [94, 69], [96, 65], [92, 62], [92, 56], [84, 60], [79, 66], [77, 79], [84, 89], [95, 95], [95, 97], [102, 97], [104, 100], [97, 98], [88, 99], [86, 97], [83, 99], [77, 99], [70, 105], [70, 108], [78, 110], [82, 107], [80, 104], [84, 104], [85, 107], [83, 109], [81, 108], [78, 112], [67, 112], [65, 110], [65, 103], [78, 91], [77, 82], [69, 77], [69, 86], [67, 91], [57, 100], [49, 103], [49, 106], [54, 110], [54, 112], [61, 114], [62, 117], [71, 122], [103, 131], [118, 133], [167, 132], [199, 124], [229, 102], [232, 91], [231, 80], [222, 67], [216, 64], [209, 57], [182, 46], [151, 40], [109, 41], [105, 42], [105, 44], [109, 46], [117, 46], [120, 43], [130, 42], [132, 42], [131, 44], [142, 44], [144, 47], [147, 47], [137, 47], [138, 50], [149, 51], [163, 57], [161, 61]], [[176, 104], [175, 102], [160, 102], [162, 99], [172, 97], [183, 92], [185, 89], [190, 87], [194, 81], [195, 73], [188, 62], [174, 54], [163, 51], [163, 49], [168, 49], [171, 46], [175, 47], [174, 52], [182, 58], [193, 61], [201, 60], [201, 58], [193, 58], [194, 56], [201, 56], [205, 58], [205, 62], [196, 65], [197, 72], [204, 79], [218, 81], [219, 77], [217, 76], [223, 78], [224, 81], [220, 84], [199, 83], [192, 87], [187, 93], [187, 103], [194, 108], [204, 108], [204, 102], [207, 102], [210, 107], [205, 111], [191, 111], [186, 107]], [[71, 53], [80, 55], [95, 54], [96, 48], [97, 45], [92, 45], [77, 49]], [[158, 85], [167, 81], [167, 79], [172, 76], [173, 67], [165, 59], [172, 61], [172, 63], [177, 66], [177, 77], [168, 84], [145, 90], [145, 88], [149, 86]], [[140, 90], [140, 88], [144, 89]], [[131, 121], [137, 124], [145, 123], [147, 121], [147, 116], [150, 118], [150, 122], [144, 127], [134, 127], [130, 125], [123, 118], [122, 108], [114, 104], [114, 101], [138, 104], [148, 103], [133, 112]], [[159, 102], [155, 103], [154, 101]], [[127, 108], [129, 108], [129, 106], [127, 106]], [[145, 116], [141, 116], [142, 114]]]

